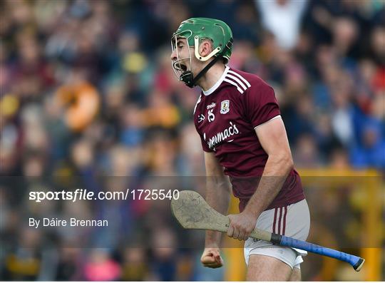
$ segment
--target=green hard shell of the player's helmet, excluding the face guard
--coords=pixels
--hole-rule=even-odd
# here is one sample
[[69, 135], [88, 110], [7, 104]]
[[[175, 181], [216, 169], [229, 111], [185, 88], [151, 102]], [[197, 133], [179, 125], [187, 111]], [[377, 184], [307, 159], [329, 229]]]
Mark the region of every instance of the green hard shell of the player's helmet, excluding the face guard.
[[[230, 61], [232, 53], [232, 31], [224, 21], [209, 18], [191, 18], [183, 21], [178, 30], [173, 34], [174, 38], [184, 37], [189, 46], [195, 47], [195, 57], [200, 61], [207, 61], [212, 56], [218, 56], [222, 53], [225, 46], [227, 50], [221, 54], [225, 58], [225, 63]], [[212, 41], [212, 53], [202, 57], [198, 53], [198, 46], [202, 39]]]

